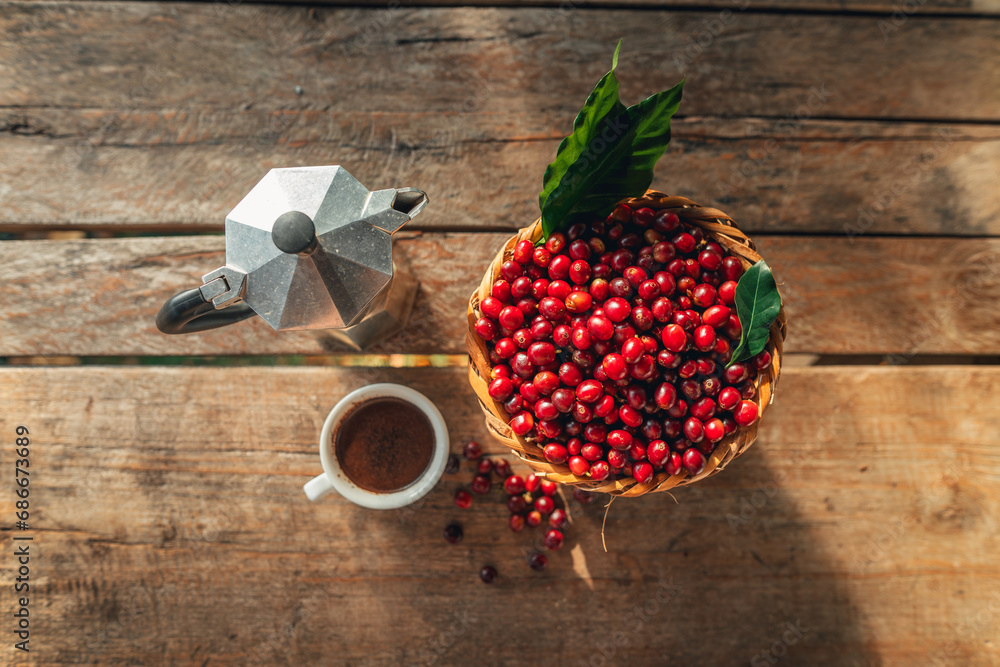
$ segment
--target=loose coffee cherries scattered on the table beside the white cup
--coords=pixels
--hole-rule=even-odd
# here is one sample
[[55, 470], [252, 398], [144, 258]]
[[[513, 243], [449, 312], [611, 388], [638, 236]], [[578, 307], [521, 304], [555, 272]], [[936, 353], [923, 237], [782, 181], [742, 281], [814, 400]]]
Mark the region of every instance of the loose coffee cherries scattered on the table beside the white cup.
[[[466, 443], [463, 450], [466, 460], [476, 464], [476, 473], [469, 485], [472, 493], [467, 489], [459, 489], [455, 492], [455, 504], [462, 509], [469, 509], [473, 504], [473, 494], [486, 496], [493, 488], [492, 476], [495, 474], [502, 485], [506, 496], [507, 508], [510, 510], [510, 520], [508, 525], [515, 533], [520, 533], [524, 528], [534, 528], [543, 526], [545, 530], [541, 544], [545, 550], [558, 551], [563, 546], [565, 531], [569, 517], [566, 510], [559, 507], [559, 498], [556, 495], [557, 485], [555, 482], [544, 480], [533, 474], [521, 477], [511, 471], [510, 463], [505, 459], [490, 459], [483, 456], [482, 447], [475, 440]], [[448, 459], [445, 468], [447, 473], [456, 473], [460, 467], [459, 459], [452, 454]], [[582, 490], [575, 490], [574, 497], [581, 504], [593, 502], [593, 494]], [[458, 523], [451, 523], [445, 527], [444, 538], [451, 543], [461, 542], [464, 536], [462, 526]], [[548, 557], [540, 549], [532, 551], [528, 555], [528, 565], [533, 570], [544, 570], [548, 565]], [[484, 565], [480, 571], [480, 578], [486, 583], [493, 583], [497, 577], [496, 569], [492, 565]]]

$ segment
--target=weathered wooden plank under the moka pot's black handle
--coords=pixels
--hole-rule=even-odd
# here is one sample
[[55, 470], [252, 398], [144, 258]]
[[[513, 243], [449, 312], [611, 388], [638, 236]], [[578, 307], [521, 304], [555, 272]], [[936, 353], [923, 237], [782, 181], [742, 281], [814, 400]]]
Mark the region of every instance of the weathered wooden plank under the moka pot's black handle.
[[[465, 309], [504, 234], [404, 234], [421, 281], [414, 315], [375, 353], [462, 353]], [[788, 312], [788, 352], [1000, 354], [1000, 240], [758, 237]], [[221, 237], [0, 244], [0, 356], [332, 354], [322, 331], [277, 334], [255, 318], [165, 336], [170, 295], [225, 262]]]

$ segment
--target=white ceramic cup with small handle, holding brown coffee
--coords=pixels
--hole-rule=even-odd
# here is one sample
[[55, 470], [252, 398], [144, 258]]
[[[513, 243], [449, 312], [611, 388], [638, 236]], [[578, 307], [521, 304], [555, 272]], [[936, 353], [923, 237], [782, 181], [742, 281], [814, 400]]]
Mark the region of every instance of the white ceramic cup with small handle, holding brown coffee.
[[[341, 470], [340, 462], [337, 461], [333, 451], [333, 435], [344, 416], [356, 405], [376, 398], [398, 398], [416, 406], [427, 416], [434, 429], [434, 451], [431, 453], [427, 468], [408, 486], [389, 493], [376, 493], [356, 485]], [[312, 501], [319, 500], [330, 491], [336, 491], [362, 507], [377, 510], [403, 507], [422, 498], [441, 479], [445, 464], [448, 462], [448, 446], [448, 428], [441, 412], [430, 399], [419, 391], [400, 384], [370, 384], [344, 396], [327, 415], [323, 431], [319, 436], [319, 459], [323, 464], [323, 474], [312, 478], [302, 488]]]

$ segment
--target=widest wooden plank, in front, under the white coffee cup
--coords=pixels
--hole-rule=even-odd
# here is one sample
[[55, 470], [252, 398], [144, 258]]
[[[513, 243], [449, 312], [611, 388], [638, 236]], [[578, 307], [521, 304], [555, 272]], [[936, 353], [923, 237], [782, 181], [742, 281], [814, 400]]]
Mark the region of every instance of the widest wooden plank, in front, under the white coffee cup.
[[1000, 632], [997, 368], [789, 369], [726, 472], [676, 504], [615, 502], [608, 553], [601, 504], [571, 506], [545, 573], [499, 497], [454, 507], [469, 464], [412, 512], [305, 500], [326, 411], [374, 381], [430, 396], [456, 447], [485, 437], [461, 369], [0, 369], [0, 431], [34, 442], [25, 664], [1000, 658], [984, 641]]

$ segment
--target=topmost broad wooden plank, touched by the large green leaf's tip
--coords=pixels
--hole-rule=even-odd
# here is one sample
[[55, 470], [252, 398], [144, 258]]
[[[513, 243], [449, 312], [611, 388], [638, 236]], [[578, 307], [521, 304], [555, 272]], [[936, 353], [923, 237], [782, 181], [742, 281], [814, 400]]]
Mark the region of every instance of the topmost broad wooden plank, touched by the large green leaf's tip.
[[[989, 19], [557, 8], [8, 5], [6, 106], [543, 114], [569, 123], [628, 35], [623, 95], [687, 75], [685, 113], [997, 120]], [[713, 21], [718, 25], [713, 24]], [[962, 48], [955, 48], [961, 44]], [[984, 55], [985, 54], [985, 55]], [[302, 94], [296, 93], [301, 86]], [[970, 94], [974, 91], [975, 94]]]

